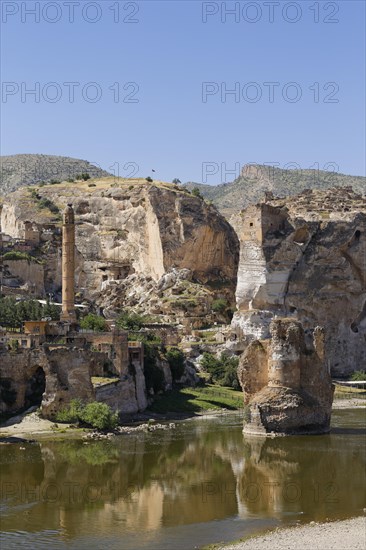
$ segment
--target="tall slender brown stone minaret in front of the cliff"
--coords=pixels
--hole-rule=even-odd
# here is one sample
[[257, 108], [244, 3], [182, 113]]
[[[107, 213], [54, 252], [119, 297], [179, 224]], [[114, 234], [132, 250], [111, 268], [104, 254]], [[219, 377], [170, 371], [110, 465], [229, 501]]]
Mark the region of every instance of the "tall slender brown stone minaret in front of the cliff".
[[76, 322], [75, 313], [75, 216], [71, 204], [62, 225], [62, 313], [61, 321]]

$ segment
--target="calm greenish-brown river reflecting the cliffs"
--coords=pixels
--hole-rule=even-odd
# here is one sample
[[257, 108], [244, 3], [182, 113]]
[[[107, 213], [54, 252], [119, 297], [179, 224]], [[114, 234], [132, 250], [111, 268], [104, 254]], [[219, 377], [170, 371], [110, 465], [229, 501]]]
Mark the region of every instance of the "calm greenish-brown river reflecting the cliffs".
[[360, 515], [365, 434], [354, 409], [322, 436], [248, 438], [228, 414], [112, 442], [2, 446], [0, 547], [189, 550]]

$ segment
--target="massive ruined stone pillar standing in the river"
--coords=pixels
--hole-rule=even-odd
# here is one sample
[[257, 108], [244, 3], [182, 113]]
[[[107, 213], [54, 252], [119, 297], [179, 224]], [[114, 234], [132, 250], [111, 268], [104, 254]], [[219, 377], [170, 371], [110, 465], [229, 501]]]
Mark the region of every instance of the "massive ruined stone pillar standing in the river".
[[[324, 331], [306, 342], [301, 324], [275, 319], [271, 339], [253, 341], [242, 355], [238, 377], [249, 406], [245, 433], [326, 433], [334, 387], [324, 357]], [[308, 339], [309, 340], [309, 339]]]

